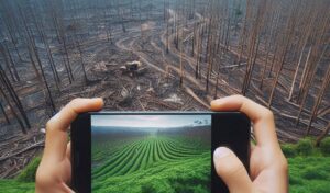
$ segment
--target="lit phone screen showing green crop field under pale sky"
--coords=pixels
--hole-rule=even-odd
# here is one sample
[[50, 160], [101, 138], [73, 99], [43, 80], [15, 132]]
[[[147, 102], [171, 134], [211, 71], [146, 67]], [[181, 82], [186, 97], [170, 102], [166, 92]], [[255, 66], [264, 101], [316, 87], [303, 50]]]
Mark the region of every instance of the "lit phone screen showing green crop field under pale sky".
[[91, 192], [211, 192], [211, 115], [91, 115]]

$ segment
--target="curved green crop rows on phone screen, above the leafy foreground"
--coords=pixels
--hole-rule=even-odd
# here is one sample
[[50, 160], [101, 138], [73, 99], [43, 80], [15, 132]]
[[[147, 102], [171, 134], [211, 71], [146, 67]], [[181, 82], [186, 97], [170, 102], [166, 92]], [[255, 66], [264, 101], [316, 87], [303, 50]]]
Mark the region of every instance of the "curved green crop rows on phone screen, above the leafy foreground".
[[100, 167], [92, 170], [92, 178], [105, 180], [153, 167], [160, 162], [191, 158], [202, 152], [197, 147], [168, 137], [147, 137], [134, 140], [112, 154]]

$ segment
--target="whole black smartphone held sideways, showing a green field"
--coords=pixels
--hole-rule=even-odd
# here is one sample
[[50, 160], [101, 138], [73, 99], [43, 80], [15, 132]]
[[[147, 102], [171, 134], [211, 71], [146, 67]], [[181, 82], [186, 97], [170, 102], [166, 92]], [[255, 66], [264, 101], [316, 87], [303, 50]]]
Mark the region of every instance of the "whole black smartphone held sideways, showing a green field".
[[98, 112], [72, 124], [72, 186], [79, 193], [228, 192], [213, 151], [249, 171], [250, 120], [240, 112]]

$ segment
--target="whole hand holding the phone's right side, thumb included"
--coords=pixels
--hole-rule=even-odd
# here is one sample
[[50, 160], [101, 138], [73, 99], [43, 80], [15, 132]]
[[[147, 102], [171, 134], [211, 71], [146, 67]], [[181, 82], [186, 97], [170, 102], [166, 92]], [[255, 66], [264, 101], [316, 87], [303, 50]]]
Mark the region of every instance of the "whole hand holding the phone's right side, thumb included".
[[239, 158], [230, 149], [219, 147], [213, 152], [218, 175], [231, 193], [288, 192], [287, 160], [279, 147], [273, 113], [242, 95], [211, 102], [213, 111], [240, 111], [253, 123], [256, 145], [251, 144], [250, 177]]

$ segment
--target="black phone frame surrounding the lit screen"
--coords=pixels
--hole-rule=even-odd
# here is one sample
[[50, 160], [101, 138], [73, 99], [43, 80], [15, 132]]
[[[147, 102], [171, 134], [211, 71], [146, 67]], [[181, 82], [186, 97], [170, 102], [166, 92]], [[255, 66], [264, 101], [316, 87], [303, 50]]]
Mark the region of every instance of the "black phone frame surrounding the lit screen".
[[[250, 170], [251, 124], [249, 117], [241, 112], [89, 112], [79, 114], [70, 129], [72, 188], [76, 192], [91, 192], [91, 115], [211, 115], [211, 151], [219, 146], [228, 146], [237, 154], [248, 172]], [[217, 129], [219, 124], [226, 129]], [[213, 163], [211, 163], [211, 192], [228, 192], [226, 184], [217, 175]]]

